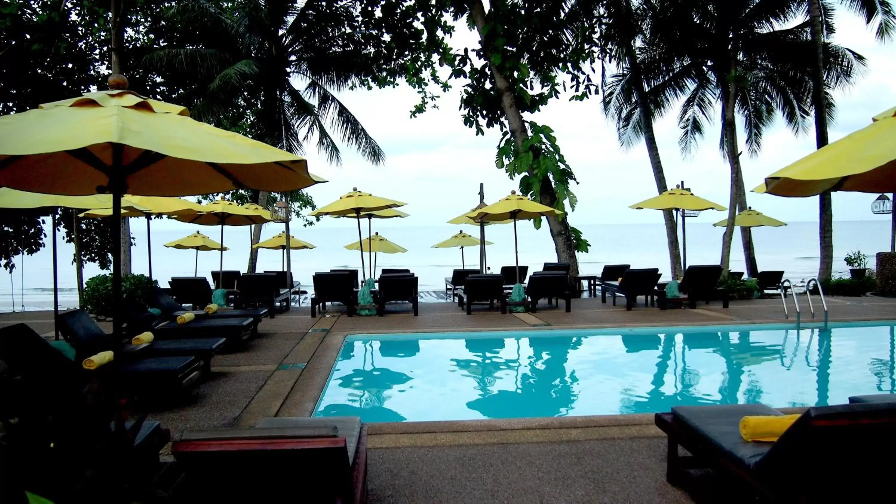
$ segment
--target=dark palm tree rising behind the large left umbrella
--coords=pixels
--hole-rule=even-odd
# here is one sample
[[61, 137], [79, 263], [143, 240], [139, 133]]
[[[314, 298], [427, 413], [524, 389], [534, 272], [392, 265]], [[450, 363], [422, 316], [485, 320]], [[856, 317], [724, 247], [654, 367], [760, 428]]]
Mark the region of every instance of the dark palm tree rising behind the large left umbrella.
[[[237, 124], [255, 140], [296, 154], [316, 140], [317, 149], [339, 165], [335, 131], [369, 162], [383, 163], [383, 149], [333, 94], [375, 77], [355, 4], [192, 0], [168, 17], [180, 35], [147, 62], [163, 75], [195, 72], [207, 82], [194, 90], [196, 118]], [[258, 204], [267, 200], [267, 192], [257, 194]], [[261, 226], [255, 226], [253, 242], [260, 236]]]

